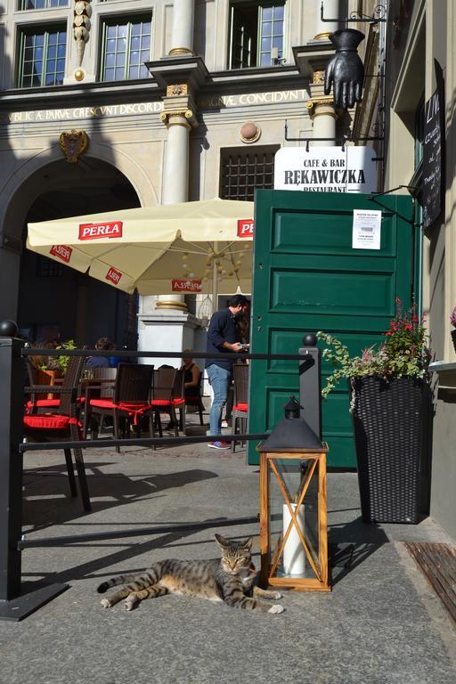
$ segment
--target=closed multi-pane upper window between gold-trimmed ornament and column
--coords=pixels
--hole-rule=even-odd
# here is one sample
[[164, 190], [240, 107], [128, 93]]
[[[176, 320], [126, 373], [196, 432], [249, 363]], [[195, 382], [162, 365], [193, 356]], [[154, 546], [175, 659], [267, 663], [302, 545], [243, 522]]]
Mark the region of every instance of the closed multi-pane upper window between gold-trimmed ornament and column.
[[151, 19], [106, 21], [102, 27], [102, 81], [146, 78], [144, 61], [151, 58]]

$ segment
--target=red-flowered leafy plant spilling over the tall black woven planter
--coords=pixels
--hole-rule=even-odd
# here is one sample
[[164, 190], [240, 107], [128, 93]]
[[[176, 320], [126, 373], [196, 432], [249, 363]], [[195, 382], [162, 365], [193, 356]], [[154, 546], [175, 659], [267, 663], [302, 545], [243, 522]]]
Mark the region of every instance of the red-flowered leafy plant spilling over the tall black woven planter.
[[356, 378], [373, 375], [387, 380], [424, 378], [431, 358], [424, 316], [420, 321], [415, 313], [415, 305], [403, 312], [400, 299], [395, 300], [395, 305], [395, 318], [389, 322], [384, 342], [379, 347], [364, 349], [359, 356], [350, 356], [348, 348], [332, 335], [317, 332], [317, 338], [327, 345], [322, 353], [323, 358], [336, 366], [322, 390], [323, 398], [327, 398], [342, 378], [349, 379], [352, 384]]

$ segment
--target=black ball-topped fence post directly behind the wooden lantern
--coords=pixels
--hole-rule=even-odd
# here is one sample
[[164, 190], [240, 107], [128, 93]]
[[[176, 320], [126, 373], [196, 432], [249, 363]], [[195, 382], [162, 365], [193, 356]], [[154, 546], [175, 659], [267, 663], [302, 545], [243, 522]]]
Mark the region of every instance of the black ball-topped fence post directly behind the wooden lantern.
[[305, 359], [299, 361], [299, 403], [303, 407], [301, 417], [322, 439], [322, 379], [320, 374], [320, 349], [313, 333], [303, 338], [304, 347], [298, 354]]

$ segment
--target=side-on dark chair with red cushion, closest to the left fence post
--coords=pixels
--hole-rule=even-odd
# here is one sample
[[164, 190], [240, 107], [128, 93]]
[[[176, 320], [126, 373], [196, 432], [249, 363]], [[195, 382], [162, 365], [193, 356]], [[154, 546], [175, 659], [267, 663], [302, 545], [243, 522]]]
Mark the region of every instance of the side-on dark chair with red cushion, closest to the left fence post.
[[[77, 442], [83, 439], [79, 422], [80, 403], [77, 402], [77, 388], [84, 364], [83, 356], [71, 356], [67, 372], [61, 385], [53, 387], [53, 394], [60, 395], [58, 405], [53, 406], [50, 413], [25, 413], [23, 417], [24, 436], [32, 442]], [[34, 385], [26, 387], [30, 395], [47, 391], [48, 386]], [[43, 407], [42, 407], [43, 408]], [[64, 449], [65, 461], [69, 476], [69, 491], [71, 496], [77, 495], [71, 450]], [[85, 510], [91, 510], [90, 498], [85, 476], [85, 465], [82, 449], [74, 449], [77, 468], [77, 478], [81, 499]]]

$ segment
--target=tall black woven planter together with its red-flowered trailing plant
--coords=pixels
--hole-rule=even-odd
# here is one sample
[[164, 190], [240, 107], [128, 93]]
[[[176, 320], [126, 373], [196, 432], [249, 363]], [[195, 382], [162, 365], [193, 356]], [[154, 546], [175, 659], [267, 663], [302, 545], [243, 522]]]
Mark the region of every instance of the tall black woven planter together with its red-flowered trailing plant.
[[322, 395], [346, 378], [365, 522], [417, 523], [428, 505], [428, 419], [430, 391], [424, 319], [412, 306], [396, 314], [379, 346], [350, 356], [337, 338], [319, 332], [322, 352], [336, 369]]

